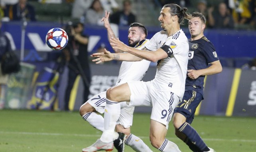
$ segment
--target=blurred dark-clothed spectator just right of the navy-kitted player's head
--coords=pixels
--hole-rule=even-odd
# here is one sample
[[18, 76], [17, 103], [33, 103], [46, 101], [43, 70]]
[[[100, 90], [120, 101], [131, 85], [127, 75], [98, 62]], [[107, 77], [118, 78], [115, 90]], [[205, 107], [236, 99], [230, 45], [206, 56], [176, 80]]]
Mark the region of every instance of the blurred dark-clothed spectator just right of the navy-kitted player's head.
[[221, 2], [219, 4], [219, 11], [214, 16], [214, 19], [209, 21], [209, 25], [214, 28], [234, 28], [234, 20], [233, 17], [230, 15], [226, 4], [224, 2]]

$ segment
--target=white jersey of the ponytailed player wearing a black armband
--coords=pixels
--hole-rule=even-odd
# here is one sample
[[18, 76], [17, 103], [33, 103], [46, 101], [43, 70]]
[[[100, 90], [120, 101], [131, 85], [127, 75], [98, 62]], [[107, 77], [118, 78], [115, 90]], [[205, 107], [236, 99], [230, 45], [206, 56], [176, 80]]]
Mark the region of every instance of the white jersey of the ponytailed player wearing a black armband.
[[156, 33], [146, 48], [155, 51], [163, 44], [170, 47], [173, 54], [158, 61], [154, 86], [160, 91], [170, 91], [182, 97], [185, 91], [185, 80], [187, 75], [187, 63], [189, 44], [185, 33], [180, 29], [168, 37], [167, 32], [162, 30]]

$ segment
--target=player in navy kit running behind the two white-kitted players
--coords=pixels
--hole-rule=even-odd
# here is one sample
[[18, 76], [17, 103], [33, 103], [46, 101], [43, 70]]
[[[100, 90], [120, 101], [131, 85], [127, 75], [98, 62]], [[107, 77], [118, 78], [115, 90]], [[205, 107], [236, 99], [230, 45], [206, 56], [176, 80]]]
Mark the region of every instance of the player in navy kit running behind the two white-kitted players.
[[175, 134], [183, 140], [192, 151], [215, 152], [206, 146], [197, 131], [191, 127], [195, 110], [203, 100], [203, 84], [206, 75], [222, 71], [215, 47], [203, 34], [205, 29], [205, 16], [193, 12], [189, 20], [189, 61], [187, 65], [187, 78], [185, 93], [174, 111], [173, 125]]

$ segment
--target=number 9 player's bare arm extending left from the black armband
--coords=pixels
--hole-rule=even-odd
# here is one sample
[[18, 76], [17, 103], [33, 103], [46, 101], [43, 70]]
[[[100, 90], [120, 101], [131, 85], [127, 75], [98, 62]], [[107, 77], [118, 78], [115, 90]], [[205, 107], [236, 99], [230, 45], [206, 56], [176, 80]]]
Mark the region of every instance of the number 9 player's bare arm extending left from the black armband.
[[161, 48], [157, 49], [156, 51], [139, 50], [133, 47], [128, 47], [127, 45], [119, 41], [119, 39], [116, 39], [114, 37], [110, 39], [110, 45], [113, 47], [113, 49], [119, 49], [152, 62], [156, 62], [160, 59], [168, 57], [167, 53]]

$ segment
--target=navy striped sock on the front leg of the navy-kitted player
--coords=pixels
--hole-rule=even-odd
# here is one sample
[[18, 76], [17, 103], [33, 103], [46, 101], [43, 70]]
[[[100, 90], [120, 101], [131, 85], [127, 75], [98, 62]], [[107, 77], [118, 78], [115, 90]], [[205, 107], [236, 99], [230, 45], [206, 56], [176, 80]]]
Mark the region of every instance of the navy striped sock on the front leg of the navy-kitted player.
[[183, 123], [178, 129], [181, 133], [185, 134], [191, 143], [195, 144], [201, 151], [207, 152], [210, 149], [203, 142], [202, 138], [199, 136], [197, 131], [193, 129], [188, 123]]

